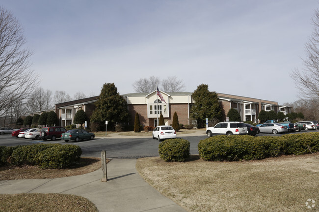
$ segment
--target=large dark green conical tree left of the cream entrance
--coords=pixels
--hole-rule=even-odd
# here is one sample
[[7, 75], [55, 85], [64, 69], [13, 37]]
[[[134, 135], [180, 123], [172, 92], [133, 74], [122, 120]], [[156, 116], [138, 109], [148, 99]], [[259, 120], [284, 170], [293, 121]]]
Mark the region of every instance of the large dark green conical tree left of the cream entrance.
[[91, 122], [103, 123], [107, 120], [107, 126], [113, 129], [116, 122], [128, 121], [127, 102], [117, 92], [114, 83], [105, 83], [103, 85], [95, 106], [96, 109], [91, 116]]

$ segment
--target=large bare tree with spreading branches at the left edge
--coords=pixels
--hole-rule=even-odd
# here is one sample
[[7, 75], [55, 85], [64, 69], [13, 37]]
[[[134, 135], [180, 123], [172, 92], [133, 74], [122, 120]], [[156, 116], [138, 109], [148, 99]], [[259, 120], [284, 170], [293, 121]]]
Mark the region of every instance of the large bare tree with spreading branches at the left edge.
[[25, 48], [26, 38], [19, 21], [0, 7], [0, 116], [32, 94], [38, 75], [28, 70], [31, 52]]

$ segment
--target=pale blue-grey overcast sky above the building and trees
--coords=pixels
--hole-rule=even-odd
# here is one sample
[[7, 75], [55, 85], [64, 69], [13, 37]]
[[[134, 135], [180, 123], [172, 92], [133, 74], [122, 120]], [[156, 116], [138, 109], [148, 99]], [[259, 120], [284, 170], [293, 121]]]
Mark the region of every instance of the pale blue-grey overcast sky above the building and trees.
[[[151, 75], [177, 76], [186, 92], [279, 104], [298, 99], [318, 0], [1, 0], [24, 27], [44, 89], [120, 94]], [[159, 89], [161, 89], [159, 87]]]

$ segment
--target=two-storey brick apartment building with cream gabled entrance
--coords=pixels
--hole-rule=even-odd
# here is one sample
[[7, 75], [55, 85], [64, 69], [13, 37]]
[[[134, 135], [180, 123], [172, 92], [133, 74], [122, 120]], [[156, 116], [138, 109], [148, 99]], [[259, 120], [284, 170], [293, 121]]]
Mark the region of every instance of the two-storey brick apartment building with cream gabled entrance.
[[[291, 108], [287, 106], [278, 105], [276, 101], [263, 100], [251, 97], [244, 97], [231, 94], [218, 94], [221, 107], [224, 114], [227, 115], [231, 108], [239, 111], [242, 121], [258, 120], [258, 115], [261, 110], [273, 110], [276, 113], [279, 111], [285, 115], [291, 113]], [[145, 126], [156, 126], [157, 118], [160, 114], [164, 117], [166, 125], [172, 124], [173, 115], [176, 112], [179, 122], [182, 124], [190, 124], [189, 110], [194, 103], [192, 93], [190, 92], [175, 92], [165, 93], [161, 92], [165, 102], [161, 101], [157, 96], [157, 92], [152, 93], [132, 93], [123, 94], [122, 96], [128, 103], [128, 111], [130, 116], [130, 125], [134, 124], [135, 113], [139, 114], [140, 124]], [[92, 115], [99, 96], [63, 102], [55, 105], [55, 113], [59, 119], [59, 125], [62, 127], [73, 124], [75, 113], [82, 109], [86, 112], [88, 118]], [[225, 121], [223, 117], [221, 121]]]

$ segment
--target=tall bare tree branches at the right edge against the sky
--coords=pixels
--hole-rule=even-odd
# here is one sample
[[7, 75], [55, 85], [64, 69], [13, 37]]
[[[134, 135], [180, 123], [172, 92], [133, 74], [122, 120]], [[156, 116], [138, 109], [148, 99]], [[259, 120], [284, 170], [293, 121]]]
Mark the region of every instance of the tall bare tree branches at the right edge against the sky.
[[308, 98], [319, 98], [319, 10], [312, 18], [314, 31], [305, 45], [307, 57], [302, 59], [304, 68], [294, 69], [290, 76], [300, 94]]

